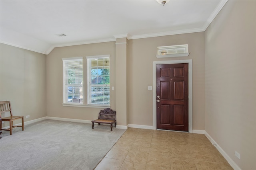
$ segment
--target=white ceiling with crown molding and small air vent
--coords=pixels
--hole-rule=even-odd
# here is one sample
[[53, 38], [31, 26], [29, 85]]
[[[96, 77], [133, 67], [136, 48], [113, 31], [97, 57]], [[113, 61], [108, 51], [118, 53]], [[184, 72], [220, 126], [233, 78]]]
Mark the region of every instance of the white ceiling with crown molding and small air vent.
[[[1, 43], [54, 47], [205, 31], [227, 0], [0, 0]], [[66, 34], [65, 37], [57, 34]]]

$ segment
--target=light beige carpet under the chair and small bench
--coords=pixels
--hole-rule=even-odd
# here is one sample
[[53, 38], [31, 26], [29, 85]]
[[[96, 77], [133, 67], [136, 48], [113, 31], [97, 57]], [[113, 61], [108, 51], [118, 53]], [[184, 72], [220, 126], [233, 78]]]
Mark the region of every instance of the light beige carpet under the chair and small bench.
[[93, 170], [124, 133], [109, 125], [44, 120], [0, 139], [1, 170]]

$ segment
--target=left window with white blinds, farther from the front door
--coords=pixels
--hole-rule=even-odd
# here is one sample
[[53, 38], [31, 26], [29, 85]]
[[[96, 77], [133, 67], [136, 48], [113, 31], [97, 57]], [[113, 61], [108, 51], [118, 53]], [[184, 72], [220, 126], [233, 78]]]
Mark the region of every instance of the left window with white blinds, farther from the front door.
[[63, 103], [83, 104], [83, 58], [63, 61]]

